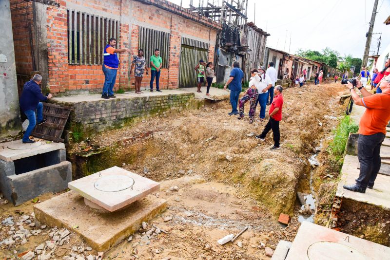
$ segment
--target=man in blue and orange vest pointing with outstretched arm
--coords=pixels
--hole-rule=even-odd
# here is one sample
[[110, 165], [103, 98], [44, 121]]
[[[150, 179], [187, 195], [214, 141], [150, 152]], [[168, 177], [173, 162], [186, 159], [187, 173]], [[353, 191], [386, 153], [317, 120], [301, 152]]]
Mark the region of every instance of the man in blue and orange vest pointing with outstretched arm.
[[119, 65], [117, 53], [130, 53], [129, 49], [115, 49], [117, 46], [117, 40], [115, 38], [109, 39], [108, 42], [109, 44], [104, 47], [103, 52], [104, 85], [101, 97], [105, 99], [116, 97], [114, 95], [113, 88], [115, 80], [117, 79], [117, 70]]

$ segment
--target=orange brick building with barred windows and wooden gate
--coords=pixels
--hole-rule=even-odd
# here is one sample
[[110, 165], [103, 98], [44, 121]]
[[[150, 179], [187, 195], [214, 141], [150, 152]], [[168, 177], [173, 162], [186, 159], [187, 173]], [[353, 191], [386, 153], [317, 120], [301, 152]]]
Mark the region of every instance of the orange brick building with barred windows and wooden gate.
[[[10, 4], [20, 90], [38, 71], [44, 79], [42, 89], [51, 93], [101, 92], [102, 52], [110, 37], [117, 38], [117, 48], [132, 50], [119, 55], [116, 90], [134, 89], [129, 70], [139, 48], [148, 67], [154, 49], [160, 49], [160, 88], [178, 88], [179, 81], [195, 86], [193, 68], [199, 58], [214, 61], [221, 29], [219, 23], [167, 0], [10, 0]], [[144, 74], [143, 87], [149, 81], [150, 75]]]

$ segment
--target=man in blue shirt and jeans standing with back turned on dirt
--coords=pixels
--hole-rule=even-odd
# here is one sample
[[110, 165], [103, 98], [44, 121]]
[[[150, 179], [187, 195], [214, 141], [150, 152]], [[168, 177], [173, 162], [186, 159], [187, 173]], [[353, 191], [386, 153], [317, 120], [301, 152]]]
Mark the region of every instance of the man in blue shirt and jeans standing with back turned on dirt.
[[230, 89], [230, 104], [232, 105], [232, 111], [229, 115], [239, 114], [237, 110], [238, 97], [240, 96], [242, 90], [242, 78], [244, 77], [244, 72], [239, 68], [240, 63], [238, 61], [233, 62], [233, 70], [230, 72], [230, 77], [226, 82], [226, 85], [223, 87], [226, 90], [229, 85]]

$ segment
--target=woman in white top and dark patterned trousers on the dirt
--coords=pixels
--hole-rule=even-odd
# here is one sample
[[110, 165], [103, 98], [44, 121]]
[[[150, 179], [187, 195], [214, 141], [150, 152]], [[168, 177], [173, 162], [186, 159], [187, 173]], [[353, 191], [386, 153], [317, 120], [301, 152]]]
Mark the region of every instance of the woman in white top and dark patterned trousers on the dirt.
[[244, 117], [244, 104], [249, 100], [251, 108], [249, 109], [249, 123], [252, 124], [254, 121], [254, 113], [256, 111], [258, 88], [260, 88], [261, 77], [257, 74], [256, 69], [251, 70], [251, 81], [249, 81], [249, 88], [245, 92], [245, 95], [240, 99], [240, 115], [237, 119]]

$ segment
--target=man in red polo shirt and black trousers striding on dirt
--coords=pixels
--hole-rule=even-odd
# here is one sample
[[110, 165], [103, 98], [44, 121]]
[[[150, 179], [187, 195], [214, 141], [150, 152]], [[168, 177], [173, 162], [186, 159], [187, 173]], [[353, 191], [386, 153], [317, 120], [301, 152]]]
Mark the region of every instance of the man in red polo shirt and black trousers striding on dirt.
[[282, 91], [283, 88], [280, 85], [277, 85], [273, 90], [274, 96], [270, 107], [270, 120], [268, 120], [268, 123], [265, 126], [263, 132], [260, 135], [255, 136], [257, 139], [264, 141], [265, 136], [272, 129], [274, 145], [273, 147], [271, 147], [271, 150], [280, 149], [279, 122], [280, 120], [282, 120], [282, 107], [283, 107]]

